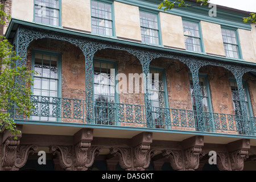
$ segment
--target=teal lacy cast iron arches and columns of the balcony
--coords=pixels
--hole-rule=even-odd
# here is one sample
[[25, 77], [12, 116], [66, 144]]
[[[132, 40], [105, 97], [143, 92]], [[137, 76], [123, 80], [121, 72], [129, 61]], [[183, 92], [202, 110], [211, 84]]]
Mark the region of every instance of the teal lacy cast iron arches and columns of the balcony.
[[[244, 64], [234, 64], [225, 61], [214, 60], [214, 59], [202, 59], [197, 56], [183, 55], [181, 53], [173, 53], [167, 51], [157, 51], [154, 49], [146, 49], [137, 46], [128, 46], [125, 44], [118, 44], [113, 42], [106, 42], [96, 39], [84, 38], [69, 34], [64, 34], [60, 32], [52, 32], [49, 30], [42, 30], [39, 28], [19, 26], [16, 31], [16, 36], [14, 39], [14, 45], [16, 48], [16, 53], [22, 60], [19, 60], [17, 66], [26, 65], [27, 57], [27, 47], [32, 42], [32, 40], [51, 38], [57, 40], [64, 40], [75, 46], [79, 47], [85, 56], [85, 94], [86, 94], [86, 123], [94, 123], [94, 106], [93, 106], [93, 57], [94, 54], [106, 48], [118, 49], [122, 51], [127, 51], [139, 59], [142, 64], [142, 71], [144, 73], [144, 86], [146, 88], [146, 93], [144, 93], [144, 102], [146, 107], [146, 119], [147, 127], [154, 127], [152, 123], [152, 113], [151, 113], [151, 101], [149, 99], [148, 91], [148, 81], [149, 81], [149, 65], [153, 59], [159, 57], [166, 57], [171, 59], [180, 60], [182, 63], [188, 66], [192, 73], [193, 86], [195, 90], [195, 100], [197, 109], [197, 119], [199, 122], [199, 131], [205, 131], [205, 126], [203, 122], [203, 106], [201, 105], [200, 97], [200, 85], [199, 85], [199, 69], [205, 65], [214, 65], [218, 67], [224, 67], [231, 71], [237, 80], [238, 93], [240, 96], [241, 110], [243, 121], [248, 123], [246, 116], [246, 105], [245, 96], [243, 94], [242, 86], [242, 76], [250, 71], [256, 71], [256, 67], [249, 67]], [[245, 125], [248, 126], [248, 125]], [[250, 133], [249, 127], [246, 127], [246, 131]]]

